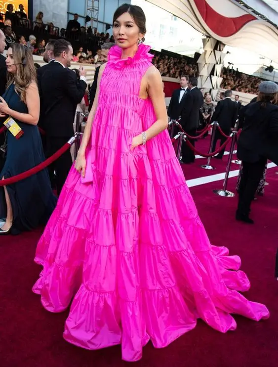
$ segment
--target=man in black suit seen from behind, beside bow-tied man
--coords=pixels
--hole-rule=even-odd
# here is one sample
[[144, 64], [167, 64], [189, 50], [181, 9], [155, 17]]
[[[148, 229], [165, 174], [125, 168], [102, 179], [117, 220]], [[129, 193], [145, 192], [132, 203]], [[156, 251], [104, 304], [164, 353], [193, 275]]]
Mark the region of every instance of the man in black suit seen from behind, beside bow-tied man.
[[[198, 79], [191, 77], [188, 86], [190, 92], [187, 93], [184, 100], [183, 110], [181, 112], [181, 126], [190, 136], [196, 136], [199, 127], [200, 108], [203, 105], [203, 95], [199, 90]], [[194, 139], [188, 139], [192, 145], [195, 145]], [[194, 163], [195, 154], [190, 147], [183, 141], [182, 143], [182, 163]]]

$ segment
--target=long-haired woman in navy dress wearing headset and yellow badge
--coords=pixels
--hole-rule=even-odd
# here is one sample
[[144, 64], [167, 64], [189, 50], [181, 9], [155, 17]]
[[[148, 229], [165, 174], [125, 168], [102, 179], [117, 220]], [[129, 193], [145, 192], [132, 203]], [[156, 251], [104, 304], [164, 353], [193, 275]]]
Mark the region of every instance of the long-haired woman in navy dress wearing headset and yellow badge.
[[[36, 82], [36, 69], [31, 51], [19, 44], [7, 50], [8, 83], [0, 97], [1, 124], [11, 117], [22, 129], [15, 138], [5, 131], [6, 150], [0, 179], [25, 172], [44, 161], [37, 123], [40, 115], [40, 96]], [[0, 124], [0, 127], [1, 127]], [[17, 234], [44, 224], [56, 205], [48, 172], [40, 171], [15, 184], [0, 187], [0, 218], [4, 224], [0, 234]]]

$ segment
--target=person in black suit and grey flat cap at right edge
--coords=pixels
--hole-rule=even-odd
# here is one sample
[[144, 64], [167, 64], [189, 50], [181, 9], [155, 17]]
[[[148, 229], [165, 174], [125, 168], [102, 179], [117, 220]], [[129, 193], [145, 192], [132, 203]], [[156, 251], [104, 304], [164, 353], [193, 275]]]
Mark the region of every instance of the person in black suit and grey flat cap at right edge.
[[242, 177], [238, 190], [236, 219], [254, 223], [249, 218], [251, 202], [268, 159], [278, 164], [278, 86], [274, 82], [259, 85], [258, 101], [242, 108], [239, 126], [238, 159], [242, 161]]

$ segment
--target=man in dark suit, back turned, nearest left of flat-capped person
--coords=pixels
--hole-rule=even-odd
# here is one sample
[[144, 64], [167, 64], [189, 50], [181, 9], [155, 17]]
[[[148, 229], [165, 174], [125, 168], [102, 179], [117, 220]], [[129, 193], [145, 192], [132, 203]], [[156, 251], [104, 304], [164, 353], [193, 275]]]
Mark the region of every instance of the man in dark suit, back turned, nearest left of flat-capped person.
[[[214, 114], [212, 115], [211, 121], [217, 121], [221, 130], [226, 135], [231, 133], [231, 129], [235, 126], [238, 118], [238, 106], [236, 102], [232, 101], [232, 91], [228, 90], [225, 92], [225, 98], [217, 103]], [[213, 140], [212, 151], [216, 149], [217, 140], [220, 140], [220, 145], [222, 145], [227, 138], [223, 137], [219, 130], [216, 130], [215, 137]], [[225, 149], [214, 158], [222, 159]]]

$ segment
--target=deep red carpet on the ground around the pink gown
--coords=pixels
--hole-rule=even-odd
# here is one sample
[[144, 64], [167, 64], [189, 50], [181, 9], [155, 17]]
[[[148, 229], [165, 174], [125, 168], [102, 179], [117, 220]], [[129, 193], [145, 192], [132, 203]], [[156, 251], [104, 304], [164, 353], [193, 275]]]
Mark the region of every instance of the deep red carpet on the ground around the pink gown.
[[[198, 161], [201, 161], [199, 159]], [[222, 165], [223, 162], [217, 164]], [[223, 164], [224, 166], [224, 164]], [[197, 172], [196, 164], [187, 166]], [[220, 169], [220, 167], [219, 167]], [[238, 169], [238, 166], [233, 168]], [[199, 169], [198, 169], [199, 170]], [[203, 173], [203, 171], [201, 171]], [[213, 172], [213, 173], [212, 173]], [[224, 172], [219, 170], [217, 173]], [[236, 198], [212, 193], [222, 182], [191, 188], [211, 242], [238, 254], [250, 281], [249, 299], [265, 303], [267, 321], [236, 316], [238, 328], [221, 334], [199, 321], [197, 327], [156, 350], [149, 343], [139, 367], [277, 367], [278, 282], [274, 279], [277, 249], [278, 172], [268, 170], [265, 197], [252, 206], [254, 226], [235, 221]], [[216, 173], [210, 171], [210, 174]], [[199, 175], [204, 176], [204, 175]], [[230, 179], [234, 190], [236, 178]], [[0, 238], [0, 365], [2, 367], [123, 367], [120, 347], [100, 351], [79, 349], [63, 340], [67, 313], [50, 314], [31, 291], [40, 267], [33, 263], [40, 230]]]

